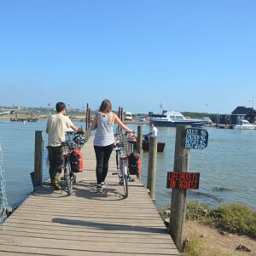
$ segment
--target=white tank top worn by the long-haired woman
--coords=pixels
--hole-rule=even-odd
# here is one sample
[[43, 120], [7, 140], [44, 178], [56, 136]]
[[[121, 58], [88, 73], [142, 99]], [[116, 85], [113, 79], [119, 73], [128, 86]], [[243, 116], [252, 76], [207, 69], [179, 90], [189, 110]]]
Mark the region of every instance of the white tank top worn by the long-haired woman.
[[97, 128], [93, 144], [105, 147], [114, 143], [113, 124], [110, 123], [110, 115], [98, 112]]

